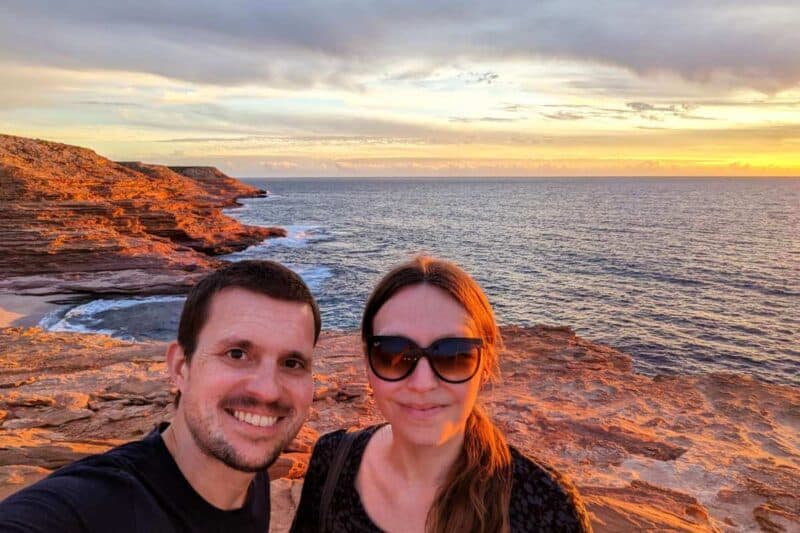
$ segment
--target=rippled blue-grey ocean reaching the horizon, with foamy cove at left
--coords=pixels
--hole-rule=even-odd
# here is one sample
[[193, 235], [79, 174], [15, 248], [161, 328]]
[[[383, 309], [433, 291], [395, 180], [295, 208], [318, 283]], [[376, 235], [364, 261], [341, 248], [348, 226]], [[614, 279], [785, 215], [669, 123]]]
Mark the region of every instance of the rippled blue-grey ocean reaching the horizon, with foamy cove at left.
[[[800, 384], [800, 180], [244, 181], [270, 196], [227, 213], [289, 235], [229, 259], [298, 271], [324, 329], [357, 329], [380, 277], [430, 253], [470, 272], [501, 324], [570, 326], [630, 353], [646, 374]], [[181, 304], [94, 301], [42, 324], [167, 339]], [[148, 320], [154, 307], [174, 309], [175, 321]]]

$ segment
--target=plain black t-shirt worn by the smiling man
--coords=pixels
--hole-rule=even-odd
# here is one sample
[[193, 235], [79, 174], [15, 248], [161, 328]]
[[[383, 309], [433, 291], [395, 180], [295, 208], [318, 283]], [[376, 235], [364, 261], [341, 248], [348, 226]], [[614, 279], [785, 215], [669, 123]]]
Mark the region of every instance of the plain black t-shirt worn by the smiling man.
[[162, 424], [144, 439], [85, 457], [0, 502], [5, 532], [269, 529], [269, 479], [259, 472], [241, 509], [220, 510], [183, 477]]

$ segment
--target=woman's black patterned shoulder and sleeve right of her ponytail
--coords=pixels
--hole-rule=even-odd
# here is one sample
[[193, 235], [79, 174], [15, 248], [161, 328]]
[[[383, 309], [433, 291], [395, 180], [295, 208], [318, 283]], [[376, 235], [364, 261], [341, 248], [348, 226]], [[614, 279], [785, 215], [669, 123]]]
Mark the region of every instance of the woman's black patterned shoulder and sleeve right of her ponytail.
[[578, 489], [550, 465], [510, 447], [513, 482], [511, 530], [590, 532], [591, 521]]

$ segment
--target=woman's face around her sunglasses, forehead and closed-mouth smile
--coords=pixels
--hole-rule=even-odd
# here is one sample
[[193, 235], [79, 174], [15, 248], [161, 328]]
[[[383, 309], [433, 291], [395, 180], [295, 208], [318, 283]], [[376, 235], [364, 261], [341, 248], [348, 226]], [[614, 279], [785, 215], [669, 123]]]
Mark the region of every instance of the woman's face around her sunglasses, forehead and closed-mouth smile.
[[[407, 337], [427, 347], [445, 337], [479, 337], [467, 311], [444, 290], [412, 285], [400, 290], [380, 308], [372, 321], [374, 335]], [[377, 377], [367, 364], [369, 382], [392, 432], [408, 442], [439, 445], [464, 433], [480, 389], [481, 370], [465, 383], [436, 377], [427, 358], [400, 381]]]

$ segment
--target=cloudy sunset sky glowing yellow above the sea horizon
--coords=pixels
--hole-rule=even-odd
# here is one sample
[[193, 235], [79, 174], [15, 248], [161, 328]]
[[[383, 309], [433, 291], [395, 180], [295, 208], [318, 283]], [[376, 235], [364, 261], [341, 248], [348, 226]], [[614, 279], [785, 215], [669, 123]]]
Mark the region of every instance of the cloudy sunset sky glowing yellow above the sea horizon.
[[800, 176], [800, 4], [0, 0], [0, 132], [239, 177]]

